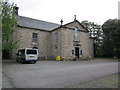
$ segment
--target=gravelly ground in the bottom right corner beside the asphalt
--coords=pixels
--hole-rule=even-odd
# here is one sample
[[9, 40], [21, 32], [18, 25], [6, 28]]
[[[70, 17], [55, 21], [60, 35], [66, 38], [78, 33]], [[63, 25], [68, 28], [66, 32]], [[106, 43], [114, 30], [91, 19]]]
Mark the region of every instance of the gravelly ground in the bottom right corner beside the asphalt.
[[68, 88], [118, 88], [118, 75], [109, 75], [97, 80], [80, 83]]

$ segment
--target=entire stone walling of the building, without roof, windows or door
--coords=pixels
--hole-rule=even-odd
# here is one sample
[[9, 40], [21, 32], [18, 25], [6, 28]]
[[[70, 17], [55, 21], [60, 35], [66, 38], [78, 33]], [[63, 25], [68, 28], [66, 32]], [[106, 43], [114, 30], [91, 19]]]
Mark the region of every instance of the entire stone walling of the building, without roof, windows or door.
[[[65, 28], [67, 27], [67, 28]], [[79, 46], [74, 43], [74, 30], [71, 28], [77, 27]], [[18, 27], [15, 32], [15, 40], [19, 40], [19, 48], [32, 48], [32, 34], [38, 33], [38, 50], [40, 59], [55, 59], [56, 56], [73, 59], [75, 57], [75, 47], [82, 50], [81, 58], [88, 56], [94, 57], [93, 54], [93, 40], [89, 38], [89, 33], [78, 22], [66, 24], [64, 27], [57, 28], [53, 31], [44, 31], [31, 28]], [[74, 50], [74, 54], [72, 54]], [[13, 50], [13, 57], [15, 52]]]

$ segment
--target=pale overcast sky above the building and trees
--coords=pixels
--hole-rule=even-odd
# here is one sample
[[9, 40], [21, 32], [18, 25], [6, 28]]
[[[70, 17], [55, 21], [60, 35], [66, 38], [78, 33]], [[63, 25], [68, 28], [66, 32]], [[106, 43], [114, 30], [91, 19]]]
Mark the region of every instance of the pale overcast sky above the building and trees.
[[63, 24], [74, 20], [93, 21], [103, 24], [108, 19], [118, 18], [119, 0], [9, 0], [17, 4], [19, 15]]

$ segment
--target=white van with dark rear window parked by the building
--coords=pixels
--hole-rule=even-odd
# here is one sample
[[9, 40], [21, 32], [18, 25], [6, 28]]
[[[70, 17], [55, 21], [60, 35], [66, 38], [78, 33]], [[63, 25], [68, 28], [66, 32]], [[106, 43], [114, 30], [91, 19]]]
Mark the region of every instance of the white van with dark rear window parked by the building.
[[32, 48], [25, 48], [25, 49], [19, 49], [16, 53], [16, 61], [25, 63], [36, 63], [38, 60], [38, 49], [32, 49]]

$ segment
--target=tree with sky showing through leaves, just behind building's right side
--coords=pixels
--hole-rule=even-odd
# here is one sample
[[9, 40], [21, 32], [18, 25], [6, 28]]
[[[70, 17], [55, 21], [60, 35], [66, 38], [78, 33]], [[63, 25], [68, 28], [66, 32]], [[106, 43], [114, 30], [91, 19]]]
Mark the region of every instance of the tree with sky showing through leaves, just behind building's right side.
[[84, 20], [81, 22], [84, 27], [86, 27], [89, 31], [90, 37], [94, 38], [94, 54], [95, 56], [101, 56], [101, 46], [102, 46], [102, 28], [101, 25], [98, 25], [94, 22], [88, 22], [87, 20]]

